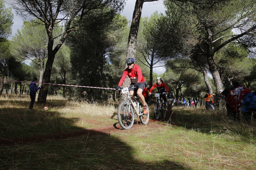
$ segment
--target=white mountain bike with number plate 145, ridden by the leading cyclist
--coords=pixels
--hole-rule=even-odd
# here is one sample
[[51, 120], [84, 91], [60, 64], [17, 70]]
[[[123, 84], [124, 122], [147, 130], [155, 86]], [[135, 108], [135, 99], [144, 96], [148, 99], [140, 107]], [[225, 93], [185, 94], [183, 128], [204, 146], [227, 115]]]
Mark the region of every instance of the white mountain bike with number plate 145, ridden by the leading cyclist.
[[[117, 112], [118, 122], [123, 129], [131, 129], [135, 118], [139, 118], [142, 124], [147, 124], [149, 120], [149, 109], [147, 114], [143, 114], [143, 104], [139, 102], [139, 97], [129, 94], [130, 88], [134, 86], [120, 89], [122, 94], [127, 95], [125, 101], [119, 104]], [[131, 97], [135, 100], [134, 102]]]

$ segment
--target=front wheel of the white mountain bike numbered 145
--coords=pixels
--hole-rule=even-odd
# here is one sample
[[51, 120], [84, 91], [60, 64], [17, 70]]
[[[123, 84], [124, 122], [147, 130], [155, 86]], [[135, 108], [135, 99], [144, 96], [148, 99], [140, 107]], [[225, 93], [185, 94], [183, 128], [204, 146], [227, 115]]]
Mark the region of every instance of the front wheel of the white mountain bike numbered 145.
[[131, 129], [134, 123], [134, 112], [133, 107], [127, 103], [127, 101], [123, 101], [119, 104], [117, 118], [120, 126], [123, 129]]

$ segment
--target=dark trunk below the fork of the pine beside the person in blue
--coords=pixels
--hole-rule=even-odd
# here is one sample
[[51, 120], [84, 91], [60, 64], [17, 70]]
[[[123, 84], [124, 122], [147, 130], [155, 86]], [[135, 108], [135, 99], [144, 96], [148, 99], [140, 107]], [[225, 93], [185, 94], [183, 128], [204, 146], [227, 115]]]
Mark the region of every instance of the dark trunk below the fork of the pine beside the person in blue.
[[[54, 57], [55, 57], [55, 54], [53, 54], [52, 51], [49, 53], [49, 50], [48, 50], [48, 60], [46, 61], [46, 65], [45, 65], [45, 71], [44, 71], [43, 80], [42, 80], [43, 82], [46, 82], [46, 83], [50, 82], [51, 69], [52, 69]], [[39, 90], [39, 94], [38, 94], [38, 98], [37, 98], [37, 101], [39, 103], [45, 103], [46, 102], [46, 97], [47, 97], [47, 94], [48, 94], [48, 87], [49, 87], [48, 84], [44, 84], [44, 89]]]

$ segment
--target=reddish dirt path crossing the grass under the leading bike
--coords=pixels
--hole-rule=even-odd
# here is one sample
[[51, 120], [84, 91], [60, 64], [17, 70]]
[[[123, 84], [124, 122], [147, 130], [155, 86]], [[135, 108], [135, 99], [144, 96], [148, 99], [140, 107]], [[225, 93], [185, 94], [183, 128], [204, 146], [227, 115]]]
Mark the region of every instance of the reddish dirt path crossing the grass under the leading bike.
[[[170, 114], [166, 111], [166, 118], [170, 118]], [[155, 119], [149, 119], [148, 124], [146, 125], [147, 128], [159, 128], [159, 126], [164, 126], [163, 124], [157, 124], [161, 123], [166, 120], [155, 120]], [[95, 124], [95, 122], [92, 122]], [[100, 122], [99, 122], [100, 124]], [[137, 124], [136, 121], [134, 122], [134, 125], [131, 129], [129, 129], [130, 132], [136, 131], [138, 128], [141, 128], [142, 124]], [[117, 133], [118, 131], [128, 131], [121, 128], [119, 123], [115, 124], [109, 124], [106, 126], [102, 126], [100, 128], [93, 128], [93, 129], [79, 129], [79, 130], [72, 130], [68, 132], [57, 132], [57, 133], [51, 133], [51, 134], [45, 134], [45, 135], [34, 135], [34, 136], [26, 136], [26, 137], [16, 137], [12, 139], [0, 139], [0, 146], [1, 145], [23, 145], [23, 144], [31, 144], [31, 143], [41, 143], [43, 141], [50, 141], [50, 140], [61, 140], [61, 139], [68, 139], [73, 137], [79, 137], [84, 135], [97, 135], [97, 134], [106, 134], [110, 135], [113, 133]]]

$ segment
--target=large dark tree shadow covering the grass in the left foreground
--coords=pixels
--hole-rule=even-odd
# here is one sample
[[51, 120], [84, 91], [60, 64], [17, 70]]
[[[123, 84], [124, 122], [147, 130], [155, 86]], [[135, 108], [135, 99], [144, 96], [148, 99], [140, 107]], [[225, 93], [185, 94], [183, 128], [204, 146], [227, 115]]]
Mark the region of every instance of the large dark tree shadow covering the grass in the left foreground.
[[148, 160], [150, 151], [142, 149], [136, 154], [134, 143], [77, 127], [76, 119], [61, 117], [59, 112], [1, 109], [5, 139], [0, 141], [0, 169], [191, 170], [167, 159]]

